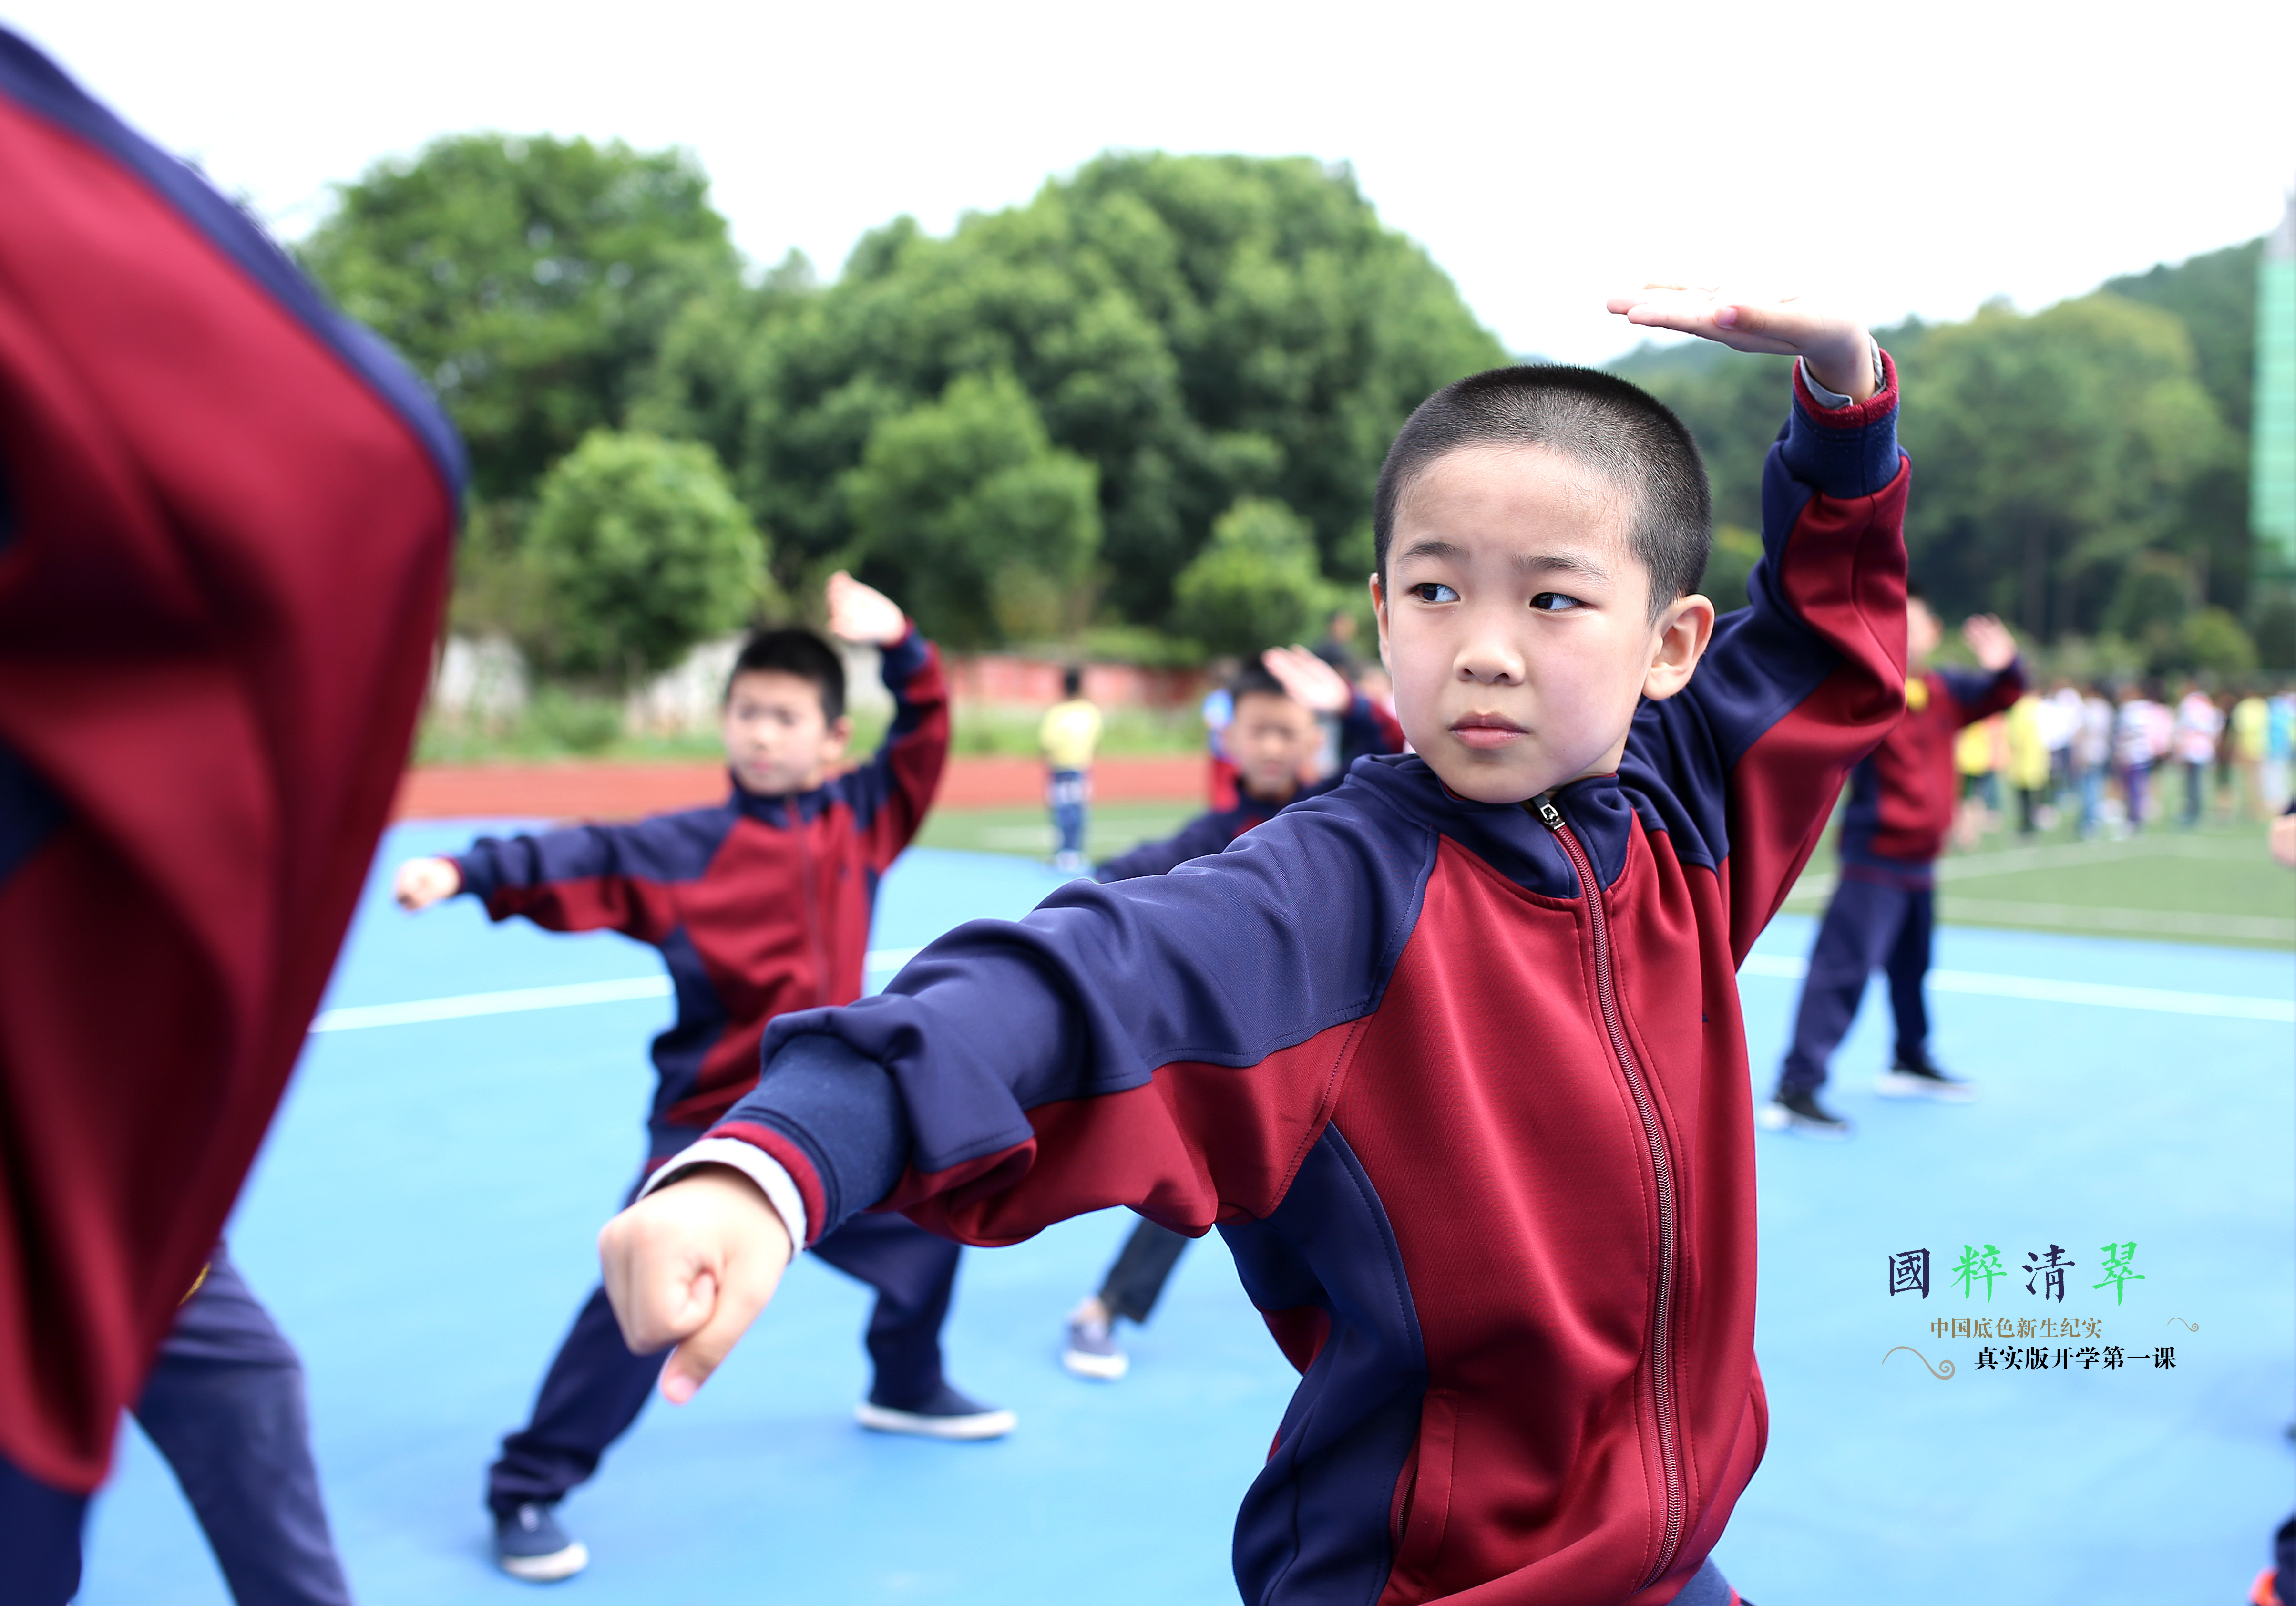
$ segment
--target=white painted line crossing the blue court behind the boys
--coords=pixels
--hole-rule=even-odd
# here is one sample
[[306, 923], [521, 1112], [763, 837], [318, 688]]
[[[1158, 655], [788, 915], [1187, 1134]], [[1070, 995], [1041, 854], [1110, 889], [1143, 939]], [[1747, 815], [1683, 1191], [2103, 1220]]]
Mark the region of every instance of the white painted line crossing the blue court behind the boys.
[[[870, 949], [868, 974], [900, 970], [923, 949]], [[1752, 953], [1740, 976], [1777, 976], [1800, 981], [1807, 965], [1789, 953]], [[2096, 1009], [2149, 1009], [2165, 1016], [2218, 1016], [2229, 1020], [2271, 1020], [2296, 1025], [2296, 1002], [2245, 993], [2172, 993], [2167, 988], [2124, 988], [2099, 981], [2050, 981], [2046, 976], [1993, 976], [1977, 970], [1933, 970], [1929, 986], [1938, 993], [1977, 993], [1984, 997], [2020, 997], [2037, 1004], [2092, 1004]], [[360, 1032], [365, 1027], [413, 1027], [425, 1020], [468, 1020], [471, 1016], [514, 1016], [528, 1009], [572, 1009], [576, 1004], [622, 1004], [641, 997], [668, 997], [668, 976], [622, 976], [620, 981], [574, 981], [563, 988], [512, 988], [510, 993], [464, 993], [459, 997], [422, 997], [409, 1004], [351, 1004], [326, 1009], [310, 1022], [312, 1032]]]

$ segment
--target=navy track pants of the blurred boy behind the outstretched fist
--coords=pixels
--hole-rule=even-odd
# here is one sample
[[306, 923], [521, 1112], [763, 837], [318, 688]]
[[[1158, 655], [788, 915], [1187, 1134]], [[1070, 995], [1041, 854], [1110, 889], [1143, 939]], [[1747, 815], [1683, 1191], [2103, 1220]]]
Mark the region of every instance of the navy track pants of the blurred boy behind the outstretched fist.
[[[944, 1383], [941, 1321], [962, 1250], [900, 1215], [854, 1215], [813, 1252], [877, 1289], [866, 1333], [877, 1372], [870, 1402], [893, 1411], [932, 1402]], [[661, 1356], [631, 1356], [606, 1289], [595, 1289], [542, 1379], [533, 1418], [503, 1441], [503, 1459], [487, 1470], [487, 1505], [546, 1505], [588, 1480], [645, 1408]]]

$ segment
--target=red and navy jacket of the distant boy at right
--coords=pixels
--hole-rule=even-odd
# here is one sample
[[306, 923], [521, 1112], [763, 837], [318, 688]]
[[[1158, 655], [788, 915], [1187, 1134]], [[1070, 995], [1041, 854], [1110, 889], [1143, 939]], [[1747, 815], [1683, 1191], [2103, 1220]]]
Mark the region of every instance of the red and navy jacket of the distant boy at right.
[[2025, 694], [2025, 664], [1931, 669], [1906, 682], [1906, 717], [1851, 770], [1841, 864], [1926, 882], [1954, 827], [1954, 738]]

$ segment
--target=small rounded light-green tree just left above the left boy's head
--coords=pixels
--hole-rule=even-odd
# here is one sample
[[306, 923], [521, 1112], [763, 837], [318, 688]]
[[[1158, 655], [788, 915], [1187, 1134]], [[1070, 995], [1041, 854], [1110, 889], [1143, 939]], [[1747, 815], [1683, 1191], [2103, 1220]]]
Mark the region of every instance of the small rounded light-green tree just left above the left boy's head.
[[765, 547], [716, 455], [592, 430], [542, 478], [523, 556], [542, 669], [627, 687], [746, 620]]

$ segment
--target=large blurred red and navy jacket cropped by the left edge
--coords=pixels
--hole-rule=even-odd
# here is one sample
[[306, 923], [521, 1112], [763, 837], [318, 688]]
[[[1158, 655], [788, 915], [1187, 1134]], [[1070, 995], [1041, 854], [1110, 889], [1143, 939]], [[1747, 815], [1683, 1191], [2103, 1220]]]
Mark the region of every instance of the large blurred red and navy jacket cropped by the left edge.
[[303, 1050], [459, 487], [372, 333], [0, 30], [0, 1461], [55, 1489]]

